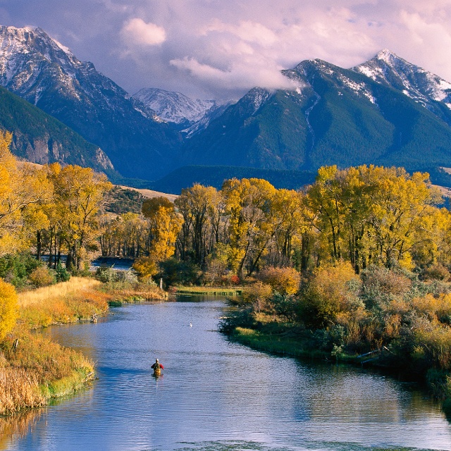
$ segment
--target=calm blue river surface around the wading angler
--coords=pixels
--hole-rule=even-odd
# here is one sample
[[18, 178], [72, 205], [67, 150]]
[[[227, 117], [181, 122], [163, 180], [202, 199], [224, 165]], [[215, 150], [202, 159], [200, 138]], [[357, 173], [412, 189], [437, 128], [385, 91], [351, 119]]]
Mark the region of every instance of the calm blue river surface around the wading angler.
[[[0, 449], [451, 450], [450, 423], [412, 386], [230, 343], [216, 331], [226, 304], [190, 299], [49, 328], [54, 340], [97, 362], [99, 380], [8, 420]], [[164, 365], [159, 379], [150, 369], [156, 357]]]

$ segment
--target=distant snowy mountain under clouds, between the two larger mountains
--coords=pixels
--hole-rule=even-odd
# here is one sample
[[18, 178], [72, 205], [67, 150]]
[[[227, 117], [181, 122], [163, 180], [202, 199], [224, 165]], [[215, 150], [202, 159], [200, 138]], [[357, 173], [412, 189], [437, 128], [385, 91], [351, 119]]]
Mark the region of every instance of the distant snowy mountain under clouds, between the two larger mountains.
[[140, 89], [133, 97], [155, 111], [164, 121], [183, 126], [200, 121], [207, 112], [218, 107], [214, 100], [191, 99], [180, 92], [157, 88]]

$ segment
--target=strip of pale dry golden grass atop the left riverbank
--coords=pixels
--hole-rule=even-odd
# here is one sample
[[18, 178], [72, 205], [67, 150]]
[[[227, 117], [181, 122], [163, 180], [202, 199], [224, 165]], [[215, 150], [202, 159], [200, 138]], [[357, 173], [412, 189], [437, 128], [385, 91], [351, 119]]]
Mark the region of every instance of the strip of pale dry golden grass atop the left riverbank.
[[37, 290], [21, 292], [18, 295], [19, 307], [27, 307], [33, 304], [48, 302], [49, 299], [64, 299], [79, 295], [86, 290], [92, 291], [99, 287], [101, 282], [92, 278], [71, 277], [67, 282], [37, 288]]

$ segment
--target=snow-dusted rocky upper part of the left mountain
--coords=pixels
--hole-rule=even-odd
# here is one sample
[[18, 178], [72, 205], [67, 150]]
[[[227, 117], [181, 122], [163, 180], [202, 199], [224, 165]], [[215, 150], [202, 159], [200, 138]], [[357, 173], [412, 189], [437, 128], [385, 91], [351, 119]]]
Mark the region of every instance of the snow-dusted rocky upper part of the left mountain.
[[0, 26], [0, 85], [37, 106], [51, 90], [66, 99], [94, 102], [102, 109], [131, 107], [145, 118], [156, 116], [39, 27]]

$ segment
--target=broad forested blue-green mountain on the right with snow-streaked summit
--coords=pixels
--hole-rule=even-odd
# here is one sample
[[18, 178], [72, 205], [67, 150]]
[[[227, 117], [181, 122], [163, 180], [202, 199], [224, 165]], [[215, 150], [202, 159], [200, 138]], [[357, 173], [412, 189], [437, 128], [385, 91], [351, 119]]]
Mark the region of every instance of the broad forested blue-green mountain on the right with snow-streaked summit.
[[[187, 142], [183, 161], [297, 170], [364, 163], [425, 170], [451, 163], [451, 110], [443, 100], [425, 92], [419, 102], [404, 87], [319, 59], [283, 73], [294, 89], [251, 89]], [[444, 99], [438, 89], [430, 92]]]

